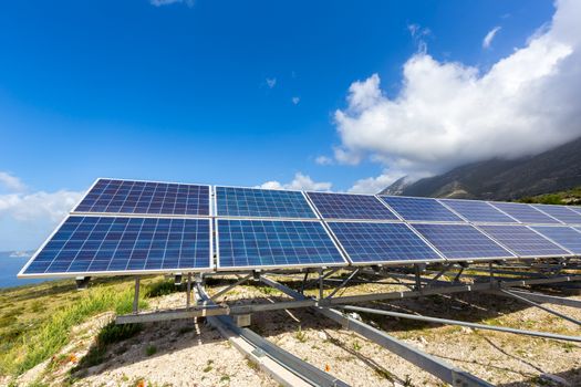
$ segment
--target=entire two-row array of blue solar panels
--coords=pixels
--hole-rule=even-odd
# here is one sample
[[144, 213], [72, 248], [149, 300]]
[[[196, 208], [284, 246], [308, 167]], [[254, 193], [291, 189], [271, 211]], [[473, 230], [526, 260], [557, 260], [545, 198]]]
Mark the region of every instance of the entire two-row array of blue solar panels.
[[100, 179], [20, 275], [581, 255], [567, 207], [230, 187], [211, 199], [209, 186]]

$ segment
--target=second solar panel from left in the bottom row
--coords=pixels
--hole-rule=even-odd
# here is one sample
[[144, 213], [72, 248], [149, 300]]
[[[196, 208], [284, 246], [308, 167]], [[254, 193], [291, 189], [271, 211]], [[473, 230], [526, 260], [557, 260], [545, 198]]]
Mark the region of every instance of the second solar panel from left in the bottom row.
[[217, 220], [218, 269], [342, 265], [320, 221]]

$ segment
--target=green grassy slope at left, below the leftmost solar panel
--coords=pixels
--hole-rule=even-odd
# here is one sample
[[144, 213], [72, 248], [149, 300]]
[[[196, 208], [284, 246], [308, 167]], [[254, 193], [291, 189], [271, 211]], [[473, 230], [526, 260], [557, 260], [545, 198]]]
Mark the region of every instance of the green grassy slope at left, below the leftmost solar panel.
[[[131, 280], [129, 280], [131, 281]], [[0, 292], [0, 375], [20, 375], [56, 354], [71, 339], [71, 330], [96, 314], [129, 313], [133, 287], [127, 279], [96, 280], [77, 292], [72, 281], [21, 286]], [[145, 301], [139, 302], [142, 307]], [[18, 311], [18, 314], [14, 314]]]

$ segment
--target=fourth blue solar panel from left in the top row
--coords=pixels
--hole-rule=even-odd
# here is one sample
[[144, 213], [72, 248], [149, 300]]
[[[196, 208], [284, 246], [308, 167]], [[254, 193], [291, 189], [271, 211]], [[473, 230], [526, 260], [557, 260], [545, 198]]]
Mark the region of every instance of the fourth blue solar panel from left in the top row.
[[436, 199], [400, 196], [382, 196], [381, 198], [405, 220], [463, 221]]

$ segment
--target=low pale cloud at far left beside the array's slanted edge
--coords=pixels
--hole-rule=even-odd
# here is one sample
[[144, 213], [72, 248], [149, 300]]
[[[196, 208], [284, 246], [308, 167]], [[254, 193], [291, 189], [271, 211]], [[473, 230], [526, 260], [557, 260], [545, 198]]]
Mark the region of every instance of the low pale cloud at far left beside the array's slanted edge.
[[81, 197], [70, 190], [0, 195], [0, 251], [38, 248]]

